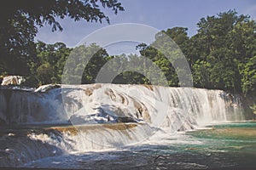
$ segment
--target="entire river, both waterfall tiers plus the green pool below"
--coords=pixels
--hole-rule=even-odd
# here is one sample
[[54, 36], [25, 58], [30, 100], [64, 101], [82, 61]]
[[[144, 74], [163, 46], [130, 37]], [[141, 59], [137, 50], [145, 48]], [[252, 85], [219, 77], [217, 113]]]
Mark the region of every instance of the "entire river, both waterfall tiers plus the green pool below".
[[256, 123], [221, 90], [142, 85], [0, 91], [0, 167], [256, 166]]

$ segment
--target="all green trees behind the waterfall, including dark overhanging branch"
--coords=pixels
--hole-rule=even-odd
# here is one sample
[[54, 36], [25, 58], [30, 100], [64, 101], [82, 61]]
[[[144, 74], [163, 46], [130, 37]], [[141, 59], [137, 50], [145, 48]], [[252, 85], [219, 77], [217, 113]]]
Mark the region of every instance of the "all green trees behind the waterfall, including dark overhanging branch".
[[[116, 0], [50, 0], [31, 3], [30, 6], [24, 5], [26, 1], [22, 2], [1, 6], [0, 71], [1, 75], [28, 76], [26, 85], [38, 86], [61, 81], [94, 83], [102, 71], [107, 75], [118, 73], [117, 77], [113, 77], [114, 83], [163, 84], [166, 78], [167, 86], [176, 87], [184, 85], [179, 82], [177, 73], [189, 77], [185, 68], [177, 66], [183, 62], [183, 53], [189, 62], [195, 87], [255, 95], [256, 23], [247, 15], [238, 15], [236, 11], [230, 10], [202, 18], [197, 24], [198, 32], [193, 37], [188, 37], [188, 29], [183, 27], [160, 31], [152, 44], [142, 43], [137, 46], [143, 58], [133, 54], [109, 56], [105, 49], [96, 44], [67, 48], [61, 42], [33, 42], [38, 32], [37, 26], [48, 24], [53, 31], [62, 30], [56, 17], [108, 21], [108, 16], [102, 13], [99, 4], [112, 8], [116, 13], [123, 10]], [[176, 44], [170, 44], [164, 34]], [[166, 55], [172, 56], [171, 62]], [[154, 74], [158, 68], [161, 74]], [[61, 79], [62, 73], [67, 77]]]

